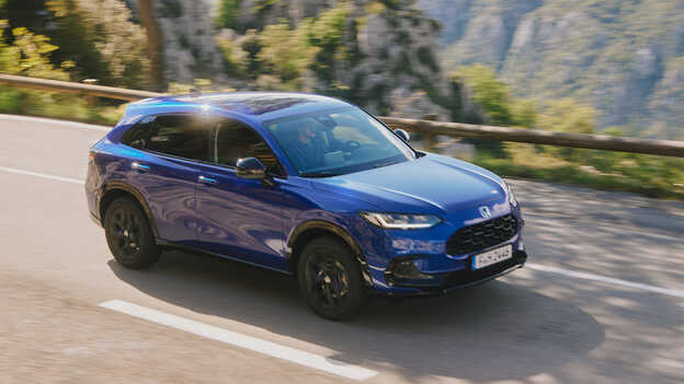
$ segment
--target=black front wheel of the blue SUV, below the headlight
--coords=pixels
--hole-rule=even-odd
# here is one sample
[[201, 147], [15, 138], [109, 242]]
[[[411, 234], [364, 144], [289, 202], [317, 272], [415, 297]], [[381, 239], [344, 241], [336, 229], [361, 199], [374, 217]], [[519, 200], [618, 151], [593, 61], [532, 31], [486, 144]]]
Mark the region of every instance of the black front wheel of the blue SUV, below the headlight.
[[306, 302], [324, 318], [350, 318], [366, 302], [358, 261], [349, 246], [334, 237], [318, 237], [305, 246], [297, 279]]

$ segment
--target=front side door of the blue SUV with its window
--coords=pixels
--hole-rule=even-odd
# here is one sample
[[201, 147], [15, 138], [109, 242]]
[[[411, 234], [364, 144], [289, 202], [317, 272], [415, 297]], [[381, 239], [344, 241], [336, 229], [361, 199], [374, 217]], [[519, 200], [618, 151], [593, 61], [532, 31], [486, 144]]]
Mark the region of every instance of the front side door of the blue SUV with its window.
[[[281, 165], [263, 138], [248, 125], [223, 118], [212, 123], [213, 159], [201, 165], [196, 190], [201, 246], [267, 268], [286, 270]], [[253, 156], [273, 183], [240, 178], [239, 159]]]

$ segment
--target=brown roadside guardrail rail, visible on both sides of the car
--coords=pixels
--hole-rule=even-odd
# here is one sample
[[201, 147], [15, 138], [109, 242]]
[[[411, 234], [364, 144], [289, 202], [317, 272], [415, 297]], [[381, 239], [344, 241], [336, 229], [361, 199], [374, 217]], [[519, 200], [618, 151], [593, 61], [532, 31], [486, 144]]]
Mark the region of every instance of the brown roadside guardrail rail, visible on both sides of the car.
[[[138, 101], [163, 94], [147, 91], [126, 90], [112, 86], [90, 85], [68, 81], [44, 80], [10, 74], [0, 74], [0, 84], [16, 88], [37, 89], [50, 92], [68, 92], [124, 101]], [[684, 141], [620, 138], [604, 135], [580, 135], [536, 129], [476, 126], [460, 123], [443, 123], [396, 117], [380, 117], [394, 128], [403, 128], [430, 137], [445, 135], [497, 141], [515, 141], [533, 144], [583, 148], [605, 151], [657, 154], [684, 158]]]

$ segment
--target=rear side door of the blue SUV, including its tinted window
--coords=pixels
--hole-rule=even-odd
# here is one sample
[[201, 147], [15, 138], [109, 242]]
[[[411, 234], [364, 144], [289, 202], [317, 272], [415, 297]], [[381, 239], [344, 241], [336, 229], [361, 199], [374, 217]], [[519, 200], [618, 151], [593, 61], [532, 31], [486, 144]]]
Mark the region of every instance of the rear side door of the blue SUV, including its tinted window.
[[193, 246], [198, 161], [209, 160], [210, 131], [191, 114], [151, 116], [123, 138], [140, 150], [129, 156], [128, 183], [146, 198], [159, 237]]

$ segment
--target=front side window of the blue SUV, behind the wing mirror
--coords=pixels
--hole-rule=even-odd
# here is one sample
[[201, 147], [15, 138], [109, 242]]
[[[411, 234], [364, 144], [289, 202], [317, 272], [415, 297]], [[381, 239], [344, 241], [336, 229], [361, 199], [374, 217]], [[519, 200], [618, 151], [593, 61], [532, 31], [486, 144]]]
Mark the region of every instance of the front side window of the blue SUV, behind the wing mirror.
[[214, 162], [235, 166], [239, 159], [256, 158], [270, 172], [277, 172], [277, 160], [269, 144], [243, 123], [224, 119], [216, 124]]

